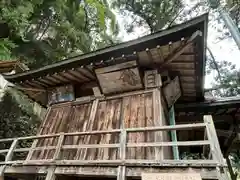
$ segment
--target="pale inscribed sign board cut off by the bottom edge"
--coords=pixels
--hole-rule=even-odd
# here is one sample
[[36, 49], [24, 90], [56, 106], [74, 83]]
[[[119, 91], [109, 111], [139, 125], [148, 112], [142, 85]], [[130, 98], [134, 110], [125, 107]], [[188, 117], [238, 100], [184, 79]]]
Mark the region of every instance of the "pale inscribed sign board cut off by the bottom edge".
[[199, 173], [142, 173], [142, 180], [202, 180]]

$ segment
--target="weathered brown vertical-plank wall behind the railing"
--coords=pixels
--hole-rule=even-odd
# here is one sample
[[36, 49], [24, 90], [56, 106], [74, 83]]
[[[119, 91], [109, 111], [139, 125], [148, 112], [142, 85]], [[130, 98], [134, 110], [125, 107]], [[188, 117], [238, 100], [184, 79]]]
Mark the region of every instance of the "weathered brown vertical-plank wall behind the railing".
[[[119, 128], [151, 127], [165, 125], [156, 113], [161, 112], [161, 103], [156, 104], [154, 93], [141, 93], [138, 95], [125, 96], [111, 100], [102, 100], [94, 108], [93, 102], [78, 105], [53, 106], [42, 124], [39, 134], [53, 134], [59, 132], [84, 132], [92, 130], [109, 130]], [[96, 103], [96, 100], [95, 102]], [[158, 119], [156, 122], [155, 119]], [[162, 119], [165, 119], [164, 117]], [[127, 143], [154, 142], [169, 140], [167, 133], [160, 132], [162, 138], [157, 138], [159, 132], [129, 133]], [[164, 134], [164, 135], [163, 135]], [[69, 136], [64, 140], [64, 145], [78, 144], [114, 144], [119, 143], [119, 134]], [[40, 140], [37, 146], [55, 146], [57, 138]], [[165, 148], [166, 149], [166, 148]], [[167, 156], [169, 157], [167, 149]], [[158, 151], [158, 152], [156, 152]], [[164, 150], [165, 151], [165, 150]], [[117, 148], [101, 149], [71, 149], [61, 152], [61, 159], [96, 160], [96, 159], [119, 159]], [[161, 152], [161, 153], [160, 153]], [[127, 148], [128, 159], [156, 159], [163, 158], [163, 149], [154, 147]], [[156, 153], [161, 157], [156, 157]], [[164, 152], [163, 152], [164, 153]], [[54, 150], [34, 152], [32, 159], [50, 159]]]

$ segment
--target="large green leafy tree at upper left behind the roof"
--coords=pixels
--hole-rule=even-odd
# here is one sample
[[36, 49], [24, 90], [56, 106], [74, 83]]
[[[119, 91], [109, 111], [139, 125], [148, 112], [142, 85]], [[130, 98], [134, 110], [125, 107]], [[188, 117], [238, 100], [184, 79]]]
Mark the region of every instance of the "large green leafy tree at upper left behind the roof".
[[9, 0], [0, 9], [13, 54], [30, 68], [112, 44], [118, 32], [105, 0]]

